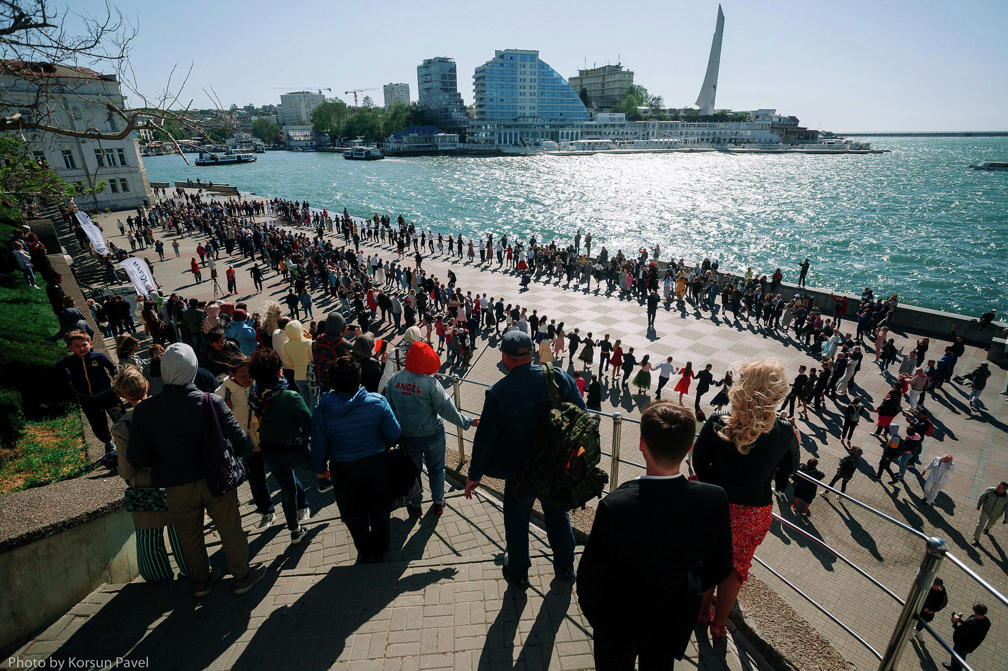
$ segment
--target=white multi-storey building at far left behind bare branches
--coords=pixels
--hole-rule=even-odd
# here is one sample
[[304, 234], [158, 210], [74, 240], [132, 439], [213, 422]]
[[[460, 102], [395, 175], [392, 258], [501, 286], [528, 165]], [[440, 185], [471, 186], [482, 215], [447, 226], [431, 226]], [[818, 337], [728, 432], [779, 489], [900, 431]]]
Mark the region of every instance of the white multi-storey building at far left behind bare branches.
[[[62, 88], [62, 94], [42, 110], [27, 109], [35, 101], [35, 82], [45, 78], [46, 84]], [[109, 114], [106, 103], [126, 108], [119, 82], [114, 75], [101, 75], [87, 68], [50, 63], [0, 62], [0, 92], [4, 115], [21, 112], [30, 117], [45, 114], [50, 125], [87, 132], [98, 130], [115, 133], [122, 129], [123, 120]], [[21, 106], [25, 106], [22, 109]], [[128, 210], [143, 204], [150, 184], [143, 167], [136, 131], [122, 140], [87, 140], [40, 131], [24, 131], [28, 150], [38, 160], [51, 167], [60, 179], [82, 187], [92, 187], [105, 180], [106, 188], [96, 195], [100, 210]], [[82, 209], [93, 207], [92, 199], [78, 198]]]

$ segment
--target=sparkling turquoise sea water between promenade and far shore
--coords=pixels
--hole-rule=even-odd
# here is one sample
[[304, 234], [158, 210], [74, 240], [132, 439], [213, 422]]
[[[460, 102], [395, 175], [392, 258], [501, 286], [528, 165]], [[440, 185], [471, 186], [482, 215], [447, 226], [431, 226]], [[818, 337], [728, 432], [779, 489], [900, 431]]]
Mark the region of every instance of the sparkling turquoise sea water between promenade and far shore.
[[[144, 159], [152, 181], [200, 178], [260, 195], [307, 200], [465, 238], [571, 241], [593, 250], [719, 259], [785, 281], [808, 258], [808, 284], [979, 316], [1008, 309], [1008, 137], [869, 138], [870, 155], [596, 154], [402, 157], [271, 151], [255, 163], [197, 167], [178, 155]], [[186, 156], [191, 161], [195, 154]]]

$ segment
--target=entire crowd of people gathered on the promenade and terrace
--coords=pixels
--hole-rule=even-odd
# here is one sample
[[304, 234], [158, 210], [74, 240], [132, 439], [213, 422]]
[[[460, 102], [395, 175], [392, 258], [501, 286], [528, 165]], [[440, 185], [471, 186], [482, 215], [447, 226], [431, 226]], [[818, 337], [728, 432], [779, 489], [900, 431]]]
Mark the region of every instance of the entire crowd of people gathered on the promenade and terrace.
[[[260, 215], [280, 218], [287, 226], [258, 222], [255, 218]], [[129, 217], [120, 226], [133, 234], [131, 246], [140, 245], [142, 250], [160, 243], [159, 254], [163, 241], [148, 235], [155, 228], [167, 237], [183, 232], [196, 237], [199, 260], [192, 259], [192, 272], [197, 283], [208, 267], [216, 279], [222, 253], [229, 260], [237, 253], [252, 262], [248, 272], [257, 291], [263, 288], [267, 270], [289, 284], [283, 305], [268, 301], [261, 313], [246, 302], [227, 300], [237, 292], [233, 266], [226, 269], [228, 291], [220, 300], [152, 292], [138, 297], [136, 305], [120, 297], [89, 301], [103, 334], [118, 337], [118, 366], [92, 351], [94, 333], [80, 312], [67, 313], [65, 323], [62, 313], [73, 308], [72, 303], [60, 305], [57, 312], [65, 326], [58, 336], [73, 352], [60, 362], [60, 370], [79, 394], [96, 435], [106, 442], [108, 463], [116, 465], [130, 485], [127, 502], [132, 501], [128, 507], [139, 530], [141, 574], [151, 580], [170, 575], [163, 534], [155, 531], [167, 528], [176, 563], [196, 580], [197, 595], [209, 593], [220, 574], [207, 559], [204, 511], [221, 535], [235, 592], [247, 591], [264, 571], [249, 562], [235, 489], [217, 491], [214, 483], [208, 483], [201, 460], [206, 449], [201, 427], [219, 426], [222, 438], [230, 442], [236, 455], [232, 467], [248, 480], [259, 529], [275, 522], [268, 471], [280, 488], [291, 543], [304, 538], [301, 523], [311, 511], [295, 472], [308, 471], [314, 474], [319, 492], [334, 491], [358, 560], [364, 563], [382, 561], [388, 550], [393, 506], [389, 446], [399, 444], [417, 471], [425, 466], [428, 513], [440, 515], [445, 511], [443, 420], [475, 428], [466, 496], [484, 477], [505, 482], [504, 575], [517, 585], [527, 585], [528, 524], [535, 498], [522, 490], [520, 478], [551, 407], [543, 368], [533, 362], [552, 365], [562, 401], [594, 410], [601, 410], [603, 382], [632, 384], [646, 394], [651, 373], [657, 370], [656, 400], [641, 419], [647, 475], [620, 486], [600, 503], [578, 581], [582, 608], [595, 629], [597, 659], [609, 660], [616, 665], [612, 668], [631, 653], [631, 664], [634, 657], [643, 663], [681, 656], [679, 639], [685, 636], [684, 650], [688, 631], [698, 621], [710, 627], [715, 642], [725, 638], [728, 612], [748, 576], [753, 552], [769, 529], [773, 493], [782, 493], [792, 481], [792, 508], [799, 517], [807, 517], [815, 483], [826, 478], [816, 459], [800, 463], [796, 414], [807, 414], [809, 404], [821, 412], [827, 397], [849, 399], [839, 436], [848, 456], [840, 461], [831, 487], [841, 481], [841, 491], [846, 492], [858, 471], [863, 452], [851, 444], [851, 437], [868, 413], [878, 416], [876, 434], [884, 447], [876, 476], [885, 471], [893, 483], [902, 481], [932, 431], [922, 403], [925, 393], [933, 396], [956, 379], [955, 368], [965, 350], [962, 338], [936, 361], [926, 359], [927, 339], [905, 355], [897, 350], [888, 338], [888, 324], [898, 306], [895, 294], [876, 298], [866, 288], [855, 310], [852, 334], [843, 331], [850, 310], [845, 297], [834, 297], [832, 316], [800, 298], [785, 301], [774, 293], [782, 281], [779, 269], [770, 279], [756, 277], [751, 269], [737, 277], [720, 272], [717, 260], [705, 259], [689, 267], [679, 259], [659, 270], [657, 247], [641, 250], [634, 258], [622, 252], [610, 257], [602, 247], [597, 257], [591, 257], [591, 236], [582, 239], [580, 232], [573, 245], [562, 248], [555, 242], [538, 244], [534, 238], [525, 244], [503, 236], [495, 240], [492, 235], [474, 242], [462, 236], [434, 236], [402, 217], [394, 224], [377, 214], [361, 221], [346, 211], [335, 217], [327, 211], [312, 212], [307, 203], [205, 202], [184, 191], [177, 199], [138, 209], [135, 219]], [[339, 236], [342, 246], [334, 241]], [[365, 254], [362, 242], [389, 247], [389, 258]], [[177, 257], [178, 245], [171, 246]], [[534, 307], [466, 291], [451, 270], [442, 278], [423, 268], [425, 255], [468, 257], [475, 264], [477, 254], [480, 264], [507, 264], [521, 277], [522, 286], [533, 279], [565, 278], [568, 285], [586, 288], [593, 280], [597, 288], [605, 282], [607, 290], [640, 300], [652, 327], [661, 301], [681, 305], [688, 299], [698, 310], [720, 307], [722, 313], [731, 311], [736, 321], [750, 320], [765, 332], [776, 331], [795, 346], [802, 345], [817, 361], [814, 367], [801, 366], [790, 384], [783, 366], [772, 361], [750, 362], [723, 375], [715, 375], [711, 364], [695, 367], [687, 361], [677, 366], [672, 357], [652, 364], [649, 355], [624, 348], [608, 333], [601, 339], [592, 332], [583, 336], [580, 327], [539, 314]], [[800, 266], [801, 280], [807, 270], [806, 260]], [[53, 284], [58, 287], [57, 281]], [[314, 320], [312, 293], [332, 299], [335, 309], [325, 319]], [[55, 289], [49, 297], [54, 311], [57, 299], [66, 300]], [[147, 361], [137, 356], [134, 314], [152, 340]], [[78, 315], [82, 318], [72, 320]], [[376, 339], [382, 332], [388, 336]], [[436, 376], [446, 364], [467, 366], [479, 339], [490, 334], [500, 336], [501, 362], [508, 374], [487, 390], [481, 417], [472, 418], [455, 407]], [[863, 350], [868, 349], [865, 339], [874, 350], [880, 374], [902, 359], [892, 390], [873, 408], [853, 394], [866, 356]], [[557, 366], [563, 357], [573, 375]], [[916, 365], [924, 361], [926, 367]], [[99, 375], [82, 374], [91, 371]], [[663, 387], [676, 376], [672, 390], [678, 393], [678, 402], [661, 402]], [[965, 377], [979, 391], [987, 376], [983, 365]], [[697, 386], [690, 394], [694, 381]], [[155, 387], [157, 393], [151, 394]], [[694, 444], [696, 421], [707, 414], [702, 400], [712, 388], [720, 388], [710, 401], [716, 410]], [[689, 396], [692, 410], [681, 405]], [[902, 424], [893, 420], [903, 410], [904, 396], [908, 425], [901, 433]], [[971, 398], [971, 405], [975, 400]], [[723, 412], [724, 407], [730, 410]], [[680, 473], [690, 448], [700, 483], [686, 482]], [[898, 475], [892, 464], [900, 467]], [[924, 505], [933, 503], [953, 468], [952, 455], [944, 454], [923, 469]], [[645, 489], [651, 494], [638, 496], [637, 490]], [[975, 542], [996, 519], [1008, 520], [1006, 489], [1004, 483], [991, 488], [978, 502], [982, 516]], [[653, 503], [642, 503], [645, 499], [667, 505], [659, 511]], [[407, 513], [421, 517], [422, 501], [422, 493], [414, 492], [405, 502]], [[574, 580], [575, 542], [568, 512], [549, 500], [541, 505], [556, 573]], [[670, 516], [668, 510], [682, 510], [683, 515]], [[698, 516], [698, 510], [704, 515]], [[647, 534], [634, 532], [645, 527]], [[689, 542], [683, 544], [683, 539]], [[690, 547], [694, 554], [668, 566], [668, 557], [674, 554], [670, 547]], [[701, 576], [690, 572], [698, 561], [705, 567]], [[621, 570], [611, 571], [609, 564]], [[659, 585], [653, 598], [646, 599], [651, 606], [634, 610], [639, 618], [613, 617], [625, 613], [625, 600], [633, 597], [629, 585], [612, 581], [613, 575], [626, 572], [626, 566], [637, 567], [637, 573], [653, 578], [650, 584]], [[669, 612], [668, 599], [678, 599], [683, 610]], [[974, 613], [983, 620], [986, 608], [977, 603]], [[674, 646], [664, 645], [661, 637], [629, 635], [665, 626], [677, 637]], [[655, 646], [654, 641], [662, 645]], [[972, 648], [964, 644], [958, 650], [965, 654]]]

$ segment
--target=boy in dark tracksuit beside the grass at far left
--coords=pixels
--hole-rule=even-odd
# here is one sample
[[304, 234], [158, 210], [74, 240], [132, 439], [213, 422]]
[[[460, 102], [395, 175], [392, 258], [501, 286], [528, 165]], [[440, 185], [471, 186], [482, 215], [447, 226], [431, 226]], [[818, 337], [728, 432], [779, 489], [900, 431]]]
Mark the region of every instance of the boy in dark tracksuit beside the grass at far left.
[[77, 392], [91, 430], [105, 443], [105, 452], [109, 454], [115, 450], [115, 446], [112, 444], [106, 411], [119, 405], [119, 397], [112, 391], [116, 366], [108, 357], [92, 350], [91, 336], [87, 332], [72, 330], [67, 333], [66, 339], [74, 354], [56, 362], [56, 371], [64, 375], [67, 384]]

